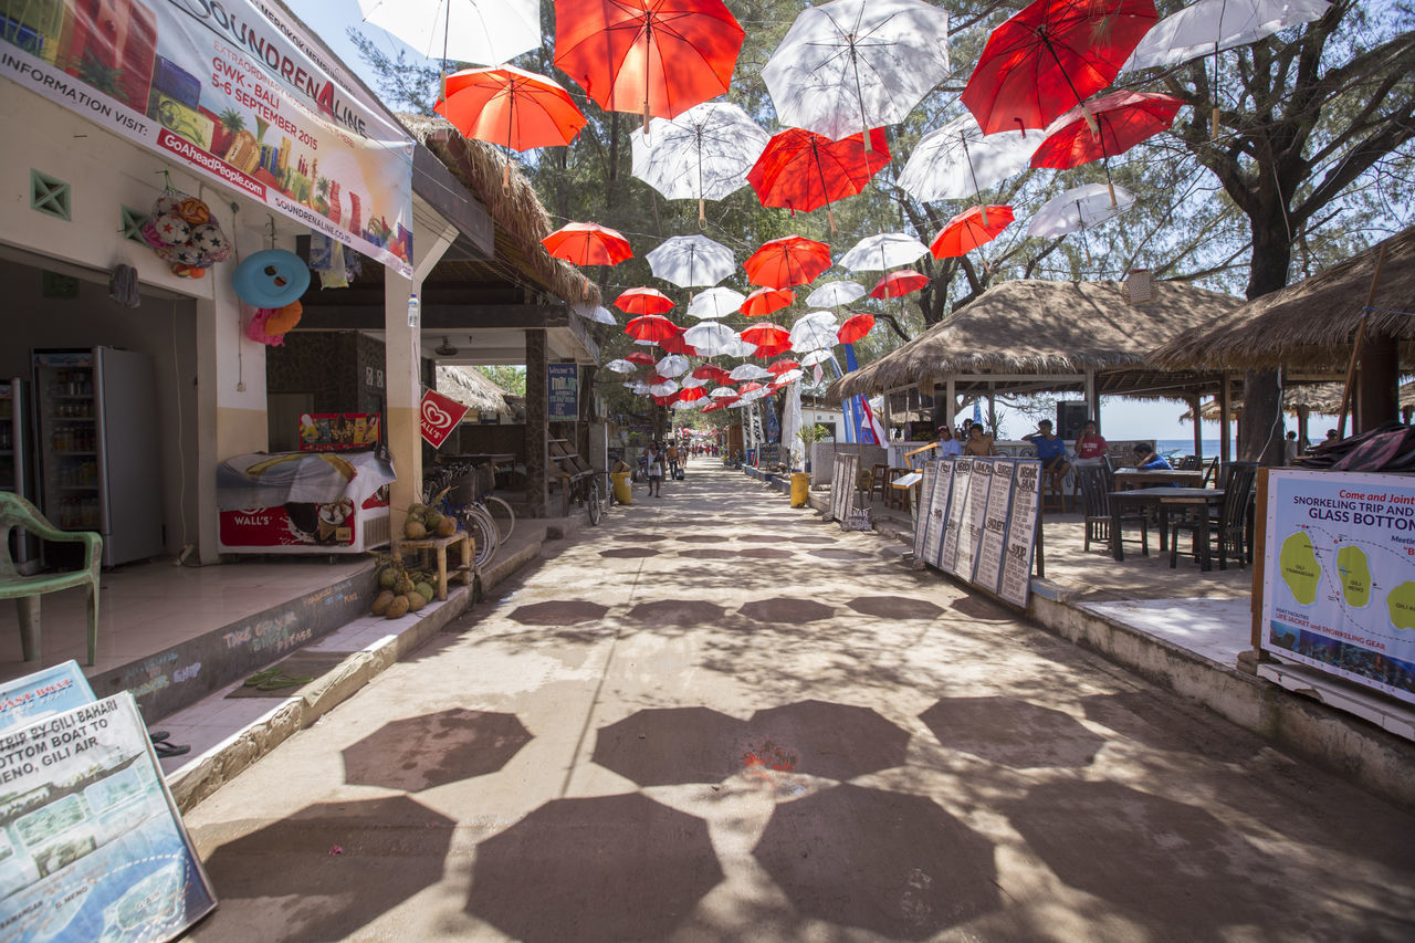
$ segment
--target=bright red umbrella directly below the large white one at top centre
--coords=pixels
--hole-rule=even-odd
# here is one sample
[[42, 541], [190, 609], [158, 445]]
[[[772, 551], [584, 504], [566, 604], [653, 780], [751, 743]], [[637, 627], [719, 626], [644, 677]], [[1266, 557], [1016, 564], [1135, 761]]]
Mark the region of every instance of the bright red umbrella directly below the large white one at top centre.
[[[747, 171], [747, 183], [764, 207], [782, 207], [811, 212], [865, 190], [880, 167], [889, 163], [884, 129], [870, 132], [870, 150], [865, 135], [841, 140], [822, 137], [801, 127], [777, 132], [767, 149]], [[835, 217], [831, 214], [831, 227]]]

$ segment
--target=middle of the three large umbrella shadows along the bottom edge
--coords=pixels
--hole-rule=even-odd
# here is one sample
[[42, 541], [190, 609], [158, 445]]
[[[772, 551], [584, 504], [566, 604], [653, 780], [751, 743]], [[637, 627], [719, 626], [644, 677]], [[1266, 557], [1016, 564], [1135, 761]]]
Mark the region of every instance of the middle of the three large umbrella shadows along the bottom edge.
[[477, 845], [466, 909], [526, 943], [662, 940], [722, 876], [702, 818], [638, 793], [556, 799]]

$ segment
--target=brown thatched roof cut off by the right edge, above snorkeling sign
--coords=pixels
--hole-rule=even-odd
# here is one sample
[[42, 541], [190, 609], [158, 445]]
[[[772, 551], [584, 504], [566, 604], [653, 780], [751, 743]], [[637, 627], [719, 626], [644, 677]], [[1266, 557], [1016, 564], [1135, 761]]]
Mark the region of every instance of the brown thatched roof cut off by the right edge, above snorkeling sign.
[[[1385, 261], [1371, 310], [1365, 299], [1381, 246]], [[1159, 345], [1170, 370], [1344, 370], [1361, 317], [1368, 334], [1401, 341], [1401, 362], [1415, 362], [1415, 227], [1296, 285], [1264, 295], [1213, 323]]]

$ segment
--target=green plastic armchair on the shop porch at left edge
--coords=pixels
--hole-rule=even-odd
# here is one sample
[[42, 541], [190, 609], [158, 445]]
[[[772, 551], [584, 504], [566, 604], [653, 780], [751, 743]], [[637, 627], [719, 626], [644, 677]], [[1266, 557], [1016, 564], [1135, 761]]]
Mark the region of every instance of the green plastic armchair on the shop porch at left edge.
[[[24, 576], [10, 559], [10, 531], [20, 528], [40, 539], [83, 544], [83, 569]], [[20, 609], [20, 647], [25, 661], [40, 660], [40, 596], [59, 589], [88, 586], [89, 665], [98, 660], [98, 575], [103, 564], [103, 538], [85, 531], [61, 531], [40, 510], [17, 494], [0, 491], [0, 599]]]

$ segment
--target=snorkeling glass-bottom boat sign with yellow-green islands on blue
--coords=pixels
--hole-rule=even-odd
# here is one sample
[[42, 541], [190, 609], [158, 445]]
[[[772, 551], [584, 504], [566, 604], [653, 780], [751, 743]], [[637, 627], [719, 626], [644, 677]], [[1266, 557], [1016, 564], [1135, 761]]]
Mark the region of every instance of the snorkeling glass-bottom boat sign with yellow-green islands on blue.
[[1415, 480], [1274, 469], [1262, 647], [1415, 704]]

